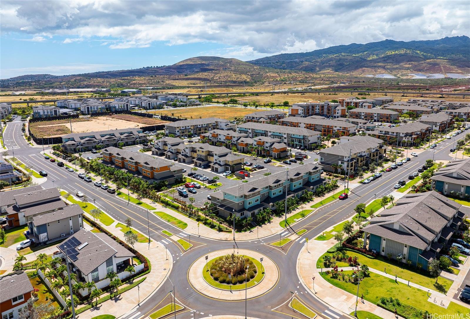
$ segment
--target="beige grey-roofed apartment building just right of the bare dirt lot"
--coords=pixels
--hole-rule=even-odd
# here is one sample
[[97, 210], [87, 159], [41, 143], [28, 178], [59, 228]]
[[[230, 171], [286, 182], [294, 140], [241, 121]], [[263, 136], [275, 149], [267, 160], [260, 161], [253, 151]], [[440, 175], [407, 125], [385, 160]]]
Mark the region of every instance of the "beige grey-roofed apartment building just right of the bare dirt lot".
[[198, 136], [212, 130], [228, 130], [234, 127], [230, 121], [218, 118], [196, 118], [193, 120], [181, 120], [165, 124], [165, 135], [169, 136]]

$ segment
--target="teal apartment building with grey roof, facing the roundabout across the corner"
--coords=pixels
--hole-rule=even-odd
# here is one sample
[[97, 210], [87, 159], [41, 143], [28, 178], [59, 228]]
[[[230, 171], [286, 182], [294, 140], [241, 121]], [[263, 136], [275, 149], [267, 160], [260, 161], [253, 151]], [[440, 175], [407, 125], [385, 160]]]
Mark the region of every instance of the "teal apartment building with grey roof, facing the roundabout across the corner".
[[286, 190], [288, 197], [299, 197], [306, 190], [315, 191], [319, 185], [326, 183], [321, 173], [321, 165], [305, 163], [286, 172], [263, 176], [211, 193], [211, 202], [220, 216], [227, 218], [235, 214], [240, 218], [254, 217], [262, 209], [275, 209], [274, 203], [286, 198]]

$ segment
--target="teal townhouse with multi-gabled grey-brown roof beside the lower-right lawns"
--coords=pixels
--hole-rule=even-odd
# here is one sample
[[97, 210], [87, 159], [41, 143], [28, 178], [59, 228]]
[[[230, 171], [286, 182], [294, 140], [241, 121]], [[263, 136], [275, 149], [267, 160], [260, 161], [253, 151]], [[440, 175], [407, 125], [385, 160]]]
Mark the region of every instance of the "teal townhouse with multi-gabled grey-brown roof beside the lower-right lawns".
[[461, 204], [436, 191], [407, 194], [364, 227], [368, 250], [427, 270], [459, 231], [465, 213]]

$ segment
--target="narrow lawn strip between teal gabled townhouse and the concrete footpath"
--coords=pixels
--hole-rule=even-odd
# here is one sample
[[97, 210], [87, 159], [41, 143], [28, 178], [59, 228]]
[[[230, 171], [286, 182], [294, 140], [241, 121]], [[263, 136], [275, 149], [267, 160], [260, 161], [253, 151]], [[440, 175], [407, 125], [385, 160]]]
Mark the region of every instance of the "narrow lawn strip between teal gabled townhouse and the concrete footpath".
[[[407, 265], [396, 265], [396, 264], [388, 263], [382, 256], [378, 256], [376, 258], [369, 258], [364, 255], [355, 253], [353, 251], [347, 251], [347, 254], [350, 257], [357, 257], [361, 265], [363, 264], [368, 265], [369, 268], [374, 268], [381, 272], [383, 272], [385, 268], [386, 272], [390, 275], [393, 275], [393, 276], [397, 275], [398, 278], [409, 280], [410, 282], [414, 282], [415, 284], [421, 285], [426, 288], [438, 290], [434, 286], [434, 283], [436, 282], [436, 280], [434, 278], [426, 276], [425, 271], [423, 271], [422, 273], [415, 272], [411, 268], [408, 268]], [[330, 254], [328, 253], [323, 254], [320, 258], [318, 258], [317, 268], [323, 267], [322, 257], [325, 255], [330, 255]], [[349, 266], [348, 264], [343, 263], [343, 262], [339, 262], [339, 263], [337, 262], [336, 265], [338, 267]], [[447, 291], [450, 288], [450, 286], [452, 286], [453, 281], [446, 279], [444, 277], [439, 277], [438, 283], [441, 284], [443, 288], [446, 289]]]

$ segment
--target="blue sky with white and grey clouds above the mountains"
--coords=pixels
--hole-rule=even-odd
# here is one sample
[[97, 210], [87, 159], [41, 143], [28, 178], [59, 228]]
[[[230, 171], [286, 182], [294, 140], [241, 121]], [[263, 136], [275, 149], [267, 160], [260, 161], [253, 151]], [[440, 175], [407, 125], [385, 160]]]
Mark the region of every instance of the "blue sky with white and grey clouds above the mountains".
[[0, 78], [468, 35], [469, 1], [0, 2]]

